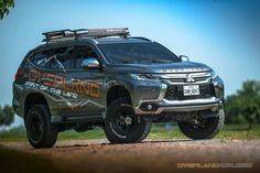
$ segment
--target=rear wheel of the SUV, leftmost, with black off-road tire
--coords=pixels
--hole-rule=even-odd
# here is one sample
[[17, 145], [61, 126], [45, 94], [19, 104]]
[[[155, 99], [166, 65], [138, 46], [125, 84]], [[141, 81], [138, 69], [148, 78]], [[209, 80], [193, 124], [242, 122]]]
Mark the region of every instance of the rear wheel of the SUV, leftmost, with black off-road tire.
[[51, 148], [55, 144], [58, 129], [51, 122], [47, 106], [33, 106], [26, 115], [25, 127], [29, 142], [33, 148]]

